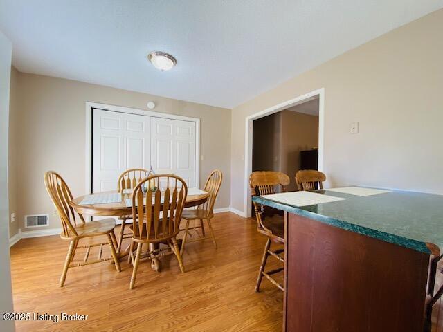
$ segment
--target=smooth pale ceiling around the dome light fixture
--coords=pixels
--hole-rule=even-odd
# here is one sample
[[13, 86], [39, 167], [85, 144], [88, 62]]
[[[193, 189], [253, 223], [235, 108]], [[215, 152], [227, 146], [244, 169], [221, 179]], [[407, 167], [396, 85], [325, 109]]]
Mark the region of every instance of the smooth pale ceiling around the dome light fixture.
[[[13, 64], [37, 73], [234, 107], [443, 0], [0, 0]], [[177, 58], [172, 71], [146, 60]]]

